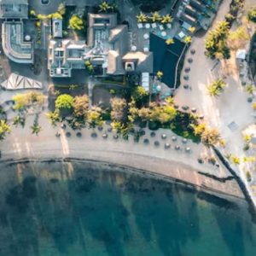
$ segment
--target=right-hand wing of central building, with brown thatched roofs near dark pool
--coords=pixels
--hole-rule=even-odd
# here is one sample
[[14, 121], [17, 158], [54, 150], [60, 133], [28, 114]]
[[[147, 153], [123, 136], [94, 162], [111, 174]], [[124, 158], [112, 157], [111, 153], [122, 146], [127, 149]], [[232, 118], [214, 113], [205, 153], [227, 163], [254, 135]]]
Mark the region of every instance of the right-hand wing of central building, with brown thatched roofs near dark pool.
[[117, 24], [117, 14], [89, 14], [88, 20], [85, 59], [101, 66], [103, 75], [153, 72], [152, 53], [130, 50], [128, 26]]

